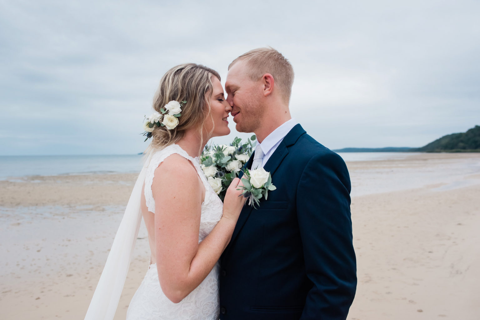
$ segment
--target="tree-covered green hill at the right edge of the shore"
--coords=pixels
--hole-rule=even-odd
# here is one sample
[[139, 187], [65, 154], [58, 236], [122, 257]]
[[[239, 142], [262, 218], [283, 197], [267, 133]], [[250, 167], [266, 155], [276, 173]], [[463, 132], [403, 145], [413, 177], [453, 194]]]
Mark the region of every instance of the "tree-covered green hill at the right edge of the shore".
[[447, 134], [434, 142], [411, 151], [480, 152], [480, 126], [475, 126], [467, 132]]

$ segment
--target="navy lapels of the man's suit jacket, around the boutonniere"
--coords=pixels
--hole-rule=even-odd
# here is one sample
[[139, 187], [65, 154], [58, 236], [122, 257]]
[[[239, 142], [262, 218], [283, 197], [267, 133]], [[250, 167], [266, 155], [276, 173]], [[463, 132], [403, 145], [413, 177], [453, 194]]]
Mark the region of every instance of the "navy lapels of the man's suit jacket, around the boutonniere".
[[[275, 180], [273, 179], [273, 174], [275, 173], [278, 166], [280, 166], [280, 164], [282, 163], [282, 160], [288, 154], [288, 147], [295, 144], [295, 142], [297, 142], [297, 140], [300, 138], [300, 136], [304, 133], [305, 133], [305, 130], [303, 130], [303, 128], [300, 126], [300, 124], [297, 124], [295, 127], [293, 127], [292, 130], [290, 130], [287, 133], [285, 138], [283, 138], [282, 142], [280, 142], [280, 144], [276, 148], [275, 152], [270, 156], [267, 163], [265, 164], [264, 169], [265, 169], [265, 171], [270, 172], [270, 174], [272, 175], [272, 182], [274, 184], [275, 184]], [[247, 164], [245, 164], [245, 166], [247, 166], [247, 168], [251, 167], [252, 162], [253, 162], [253, 154], [250, 157], [250, 159], [248, 160]], [[245, 169], [245, 167], [244, 167], [244, 169]], [[272, 192], [274, 192], [274, 191], [272, 191]], [[233, 230], [233, 235], [232, 235], [232, 238], [230, 240], [230, 243], [233, 243], [233, 240], [235, 240], [235, 238], [238, 236], [241, 228], [243, 227], [245, 222], [247, 222], [248, 217], [250, 216], [250, 213], [252, 213], [252, 210], [256, 210], [256, 209], [253, 209], [253, 207], [248, 204], [248, 201], [247, 201], [247, 203], [245, 203], [245, 206], [247, 206], [247, 207], [244, 207], [243, 210], [240, 213], [239, 219], [237, 221], [237, 225], [235, 225], [235, 229]], [[259, 209], [262, 208], [262, 203], [261, 202], [260, 202], [260, 206], [257, 207], [257, 208], [259, 208]]]

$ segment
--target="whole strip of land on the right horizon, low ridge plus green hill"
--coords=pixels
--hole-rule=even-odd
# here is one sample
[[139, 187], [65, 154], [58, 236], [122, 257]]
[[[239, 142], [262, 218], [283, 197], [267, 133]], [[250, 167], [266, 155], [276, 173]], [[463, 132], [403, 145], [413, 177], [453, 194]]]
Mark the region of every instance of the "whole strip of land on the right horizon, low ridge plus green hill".
[[335, 152], [480, 152], [480, 126], [443, 136], [421, 148], [343, 148]]

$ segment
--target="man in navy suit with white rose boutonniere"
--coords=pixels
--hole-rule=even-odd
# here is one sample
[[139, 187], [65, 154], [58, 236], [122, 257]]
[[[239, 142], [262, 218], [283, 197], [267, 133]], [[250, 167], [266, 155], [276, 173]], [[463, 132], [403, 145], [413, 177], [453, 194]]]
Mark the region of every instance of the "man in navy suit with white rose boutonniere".
[[243, 208], [221, 257], [221, 320], [344, 320], [355, 296], [348, 170], [291, 119], [292, 83], [273, 48], [228, 67], [236, 129], [257, 136], [246, 167], [264, 167], [276, 190]]

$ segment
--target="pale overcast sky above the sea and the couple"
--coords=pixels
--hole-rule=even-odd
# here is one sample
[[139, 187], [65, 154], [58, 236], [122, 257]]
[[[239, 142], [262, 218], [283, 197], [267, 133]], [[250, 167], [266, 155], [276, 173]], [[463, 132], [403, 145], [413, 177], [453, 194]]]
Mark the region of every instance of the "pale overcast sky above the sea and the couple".
[[[0, 155], [135, 154], [162, 75], [272, 46], [290, 110], [331, 149], [480, 125], [480, 0], [0, 0]], [[230, 118], [231, 119], [231, 118]], [[235, 135], [216, 138], [228, 142]]]

